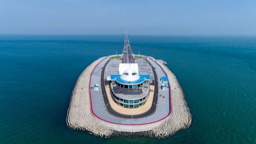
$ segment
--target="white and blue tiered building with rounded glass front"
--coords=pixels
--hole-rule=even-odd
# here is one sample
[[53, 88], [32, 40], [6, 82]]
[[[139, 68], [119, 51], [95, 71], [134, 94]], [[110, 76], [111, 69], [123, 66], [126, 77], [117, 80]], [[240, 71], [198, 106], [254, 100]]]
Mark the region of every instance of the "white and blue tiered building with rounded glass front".
[[115, 103], [125, 108], [144, 105], [149, 96], [150, 77], [139, 74], [138, 64], [119, 64], [119, 74], [111, 75], [110, 86]]

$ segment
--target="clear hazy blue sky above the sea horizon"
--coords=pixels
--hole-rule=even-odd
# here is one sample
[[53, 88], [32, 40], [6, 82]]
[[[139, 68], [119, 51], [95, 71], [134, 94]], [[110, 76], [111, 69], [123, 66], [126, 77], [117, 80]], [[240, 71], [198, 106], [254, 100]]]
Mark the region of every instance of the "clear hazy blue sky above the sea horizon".
[[256, 35], [256, 0], [0, 0], [0, 34]]

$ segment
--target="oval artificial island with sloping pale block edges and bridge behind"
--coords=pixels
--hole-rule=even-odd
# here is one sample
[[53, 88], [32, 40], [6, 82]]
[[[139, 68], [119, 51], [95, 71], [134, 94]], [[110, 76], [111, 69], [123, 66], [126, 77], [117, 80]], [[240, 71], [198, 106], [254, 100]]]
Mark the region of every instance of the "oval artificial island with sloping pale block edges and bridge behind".
[[125, 34], [123, 53], [101, 57], [79, 76], [66, 123], [94, 135], [168, 137], [188, 128], [191, 114], [165, 62], [134, 55]]

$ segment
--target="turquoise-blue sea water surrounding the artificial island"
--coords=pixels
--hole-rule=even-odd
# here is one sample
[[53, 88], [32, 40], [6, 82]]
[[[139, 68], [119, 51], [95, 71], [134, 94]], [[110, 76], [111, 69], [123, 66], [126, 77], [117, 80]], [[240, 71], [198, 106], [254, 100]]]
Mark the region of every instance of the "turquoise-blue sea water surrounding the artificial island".
[[0, 143], [255, 144], [256, 37], [129, 36], [134, 53], [163, 59], [192, 114], [165, 139], [105, 139], [69, 130], [66, 112], [80, 73], [121, 53], [124, 35], [0, 36]]

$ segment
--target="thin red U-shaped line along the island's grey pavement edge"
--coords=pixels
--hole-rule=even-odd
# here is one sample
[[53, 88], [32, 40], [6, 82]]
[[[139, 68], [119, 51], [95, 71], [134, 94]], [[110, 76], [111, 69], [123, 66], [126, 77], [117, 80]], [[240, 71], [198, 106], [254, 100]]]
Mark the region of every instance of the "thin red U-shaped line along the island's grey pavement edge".
[[[150, 57], [149, 57], [150, 58]], [[105, 59], [105, 58], [103, 58], [103, 59]], [[103, 60], [103, 59], [101, 59], [101, 61]], [[151, 58], [150, 58], [151, 59]], [[151, 59], [151, 60], [153, 60], [153, 59]], [[101, 62], [100, 61], [100, 62]], [[98, 62], [98, 64], [100, 63], [100, 62]], [[157, 62], [155, 62], [156, 64], [158, 64]], [[96, 66], [98, 66], [98, 64], [96, 64]], [[91, 74], [90, 74], [90, 81], [89, 81], [89, 94], [90, 94], [90, 103], [91, 103], [91, 89], [90, 89], [90, 86], [91, 86], [91, 75], [92, 75], [92, 73], [94, 72], [94, 70], [95, 70], [95, 68], [96, 68], [96, 66], [94, 66], [94, 69], [92, 70], [92, 72], [91, 72]], [[158, 66], [160, 66], [160, 64], [158, 64]], [[160, 66], [161, 67], [161, 69], [162, 69], [162, 66]], [[165, 75], [167, 75], [167, 73], [165, 72], [165, 70], [164, 69], [162, 69], [163, 71], [164, 71], [164, 73], [165, 73]], [[171, 112], [172, 112], [172, 109], [171, 109], [171, 85], [170, 85], [170, 83], [169, 83], [169, 78], [168, 78], [168, 76], [167, 76], [167, 79], [168, 79], [168, 85], [169, 85], [169, 91], [170, 91], [170, 112], [169, 112], [169, 114], [166, 116], [166, 117], [164, 117], [164, 118], [162, 118], [162, 119], [159, 119], [158, 121], [162, 121], [163, 119], [165, 119], [165, 118], [167, 118], [170, 114], [171, 114]], [[92, 109], [92, 104], [91, 104], [91, 113], [95, 116], [95, 117], [97, 117], [98, 119], [101, 119], [100, 117], [98, 117], [95, 113], [94, 113], [94, 111], [93, 111], [93, 109]], [[113, 122], [111, 122], [111, 121], [106, 121], [105, 119], [101, 119], [102, 121], [105, 121], [105, 122], [107, 122], [107, 123], [113, 123]], [[141, 124], [123, 124], [123, 123], [113, 123], [113, 124], [118, 124], [118, 125], [125, 125], [125, 126], [139, 126], [139, 125], [146, 125], [146, 124], [151, 124], [151, 123], [156, 123], [156, 122], [158, 122], [158, 121], [153, 121], [153, 122], [150, 122], [150, 123], [141, 123]]]

